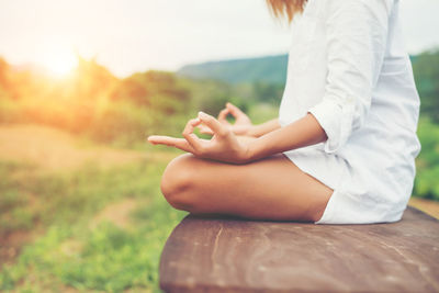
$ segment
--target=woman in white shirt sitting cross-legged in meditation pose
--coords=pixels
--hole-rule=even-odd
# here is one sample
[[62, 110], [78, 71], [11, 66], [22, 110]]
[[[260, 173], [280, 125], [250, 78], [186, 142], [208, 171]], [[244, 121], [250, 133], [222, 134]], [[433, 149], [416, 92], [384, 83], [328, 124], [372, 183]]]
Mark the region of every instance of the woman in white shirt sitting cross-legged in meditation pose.
[[[318, 224], [395, 222], [410, 196], [419, 98], [402, 43], [398, 0], [268, 0], [294, 25], [279, 119], [251, 125], [227, 104], [201, 113], [184, 138], [150, 136], [190, 153], [167, 167], [176, 209]], [[235, 125], [225, 121], [236, 117]], [[210, 140], [193, 134], [209, 128]], [[243, 137], [252, 137], [244, 139]]]

